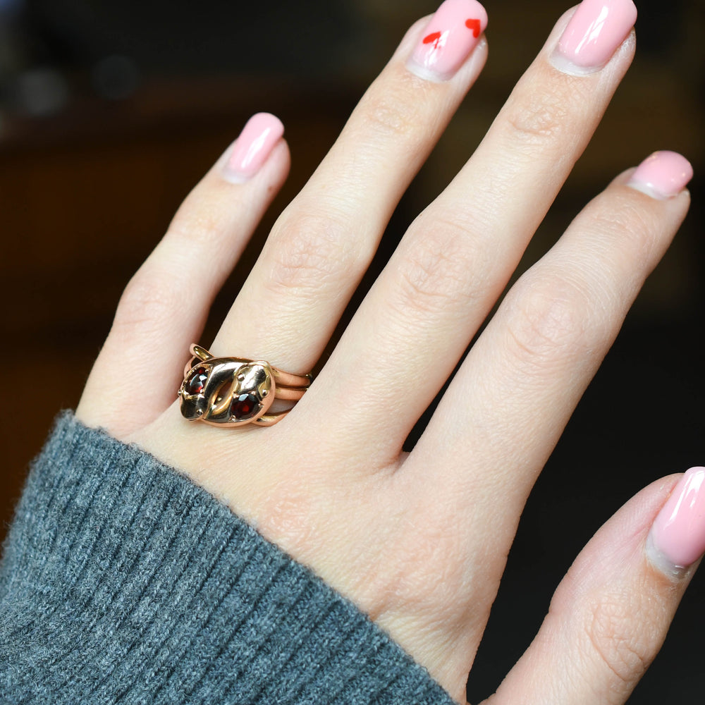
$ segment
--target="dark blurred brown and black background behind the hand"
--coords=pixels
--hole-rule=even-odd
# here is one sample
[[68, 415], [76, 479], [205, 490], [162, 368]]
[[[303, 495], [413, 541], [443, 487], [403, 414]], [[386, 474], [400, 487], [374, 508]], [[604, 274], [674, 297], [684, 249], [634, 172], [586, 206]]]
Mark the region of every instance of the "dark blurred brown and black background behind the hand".
[[[371, 276], [471, 154], [568, 4], [486, 6], [489, 63], [398, 207]], [[493, 692], [529, 644], [553, 588], [601, 523], [651, 480], [705, 464], [705, 9], [701, 0], [637, 6], [634, 65], [525, 264], [616, 173], [655, 149], [691, 159], [692, 212], [529, 501], [471, 702]], [[266, 110], [282, 118], [293, 168], [204, 341], [274, 214], [305, 183], [407, 26], [432, 11], [427, 0], [0, 0], [3, 527], [51, 419], [77, 403], [130, 274], [247, 117]], [[704, 592], [696, 577], [631, 703], [702, 701]]]

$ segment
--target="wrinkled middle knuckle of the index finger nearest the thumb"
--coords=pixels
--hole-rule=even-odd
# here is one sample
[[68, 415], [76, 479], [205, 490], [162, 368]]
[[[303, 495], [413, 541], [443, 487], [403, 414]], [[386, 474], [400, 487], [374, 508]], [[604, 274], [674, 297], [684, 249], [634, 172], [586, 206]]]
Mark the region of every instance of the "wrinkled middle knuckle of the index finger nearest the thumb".
[[517, 356], [528, 362], [583, 354], [600, 334], [589, 294], [558, 274], [525, 277], [512, 308], [509, 338]]

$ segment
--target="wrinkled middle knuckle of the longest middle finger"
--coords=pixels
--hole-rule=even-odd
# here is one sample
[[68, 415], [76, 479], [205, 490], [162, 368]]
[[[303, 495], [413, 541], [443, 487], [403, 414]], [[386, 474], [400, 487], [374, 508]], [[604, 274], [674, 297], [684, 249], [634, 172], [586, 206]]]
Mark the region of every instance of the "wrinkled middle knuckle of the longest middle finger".
[[[400, 259], [396, 270], [396, 300], [402, 311], [448, 311], [465, 307], [474, 298], [470, 287], [472, 237], [457, 223], [440, 223], [424, 231]], [[473, 267], [477, 269], [477, 267]]]

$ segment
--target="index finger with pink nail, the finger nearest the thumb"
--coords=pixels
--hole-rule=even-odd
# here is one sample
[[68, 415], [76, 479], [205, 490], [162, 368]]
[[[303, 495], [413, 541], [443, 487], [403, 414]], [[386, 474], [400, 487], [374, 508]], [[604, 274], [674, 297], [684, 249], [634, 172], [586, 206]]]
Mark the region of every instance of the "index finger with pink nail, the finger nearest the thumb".
[[[654, 173], [672, 197], [641, 192], [655, 194]], [[494, 551], [508, 551], [537, 475], [685, 217], [691, 174], [683, 157], [659, 152], [617, 178], [513, 286], [470, 350], [407, 467], [410, 482], [427, 483], [433, 458], [434, 483], [472, 496], [469, 541], [486, 541], [491, 526]]]

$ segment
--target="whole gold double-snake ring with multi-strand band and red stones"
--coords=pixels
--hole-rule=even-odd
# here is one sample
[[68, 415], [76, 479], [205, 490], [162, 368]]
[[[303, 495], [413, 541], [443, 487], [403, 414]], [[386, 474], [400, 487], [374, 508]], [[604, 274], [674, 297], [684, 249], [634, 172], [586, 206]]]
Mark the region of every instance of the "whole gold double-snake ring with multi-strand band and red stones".
[[312, 382], [310, 374], [293, 374], [264, 360], [214, 357], [195, 343], [178, 390], [181, 415], [221, 427], [272, 426], [290, 409], [269, 412], [275, 399], [297, 402]]

